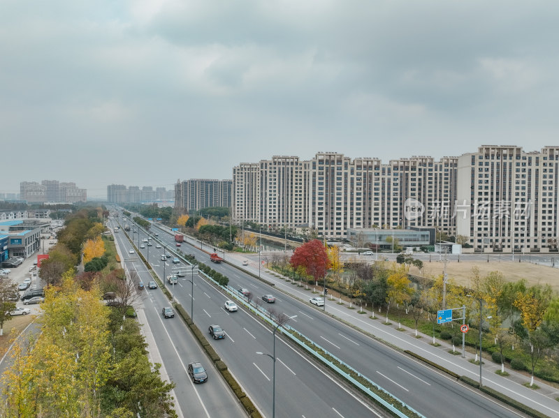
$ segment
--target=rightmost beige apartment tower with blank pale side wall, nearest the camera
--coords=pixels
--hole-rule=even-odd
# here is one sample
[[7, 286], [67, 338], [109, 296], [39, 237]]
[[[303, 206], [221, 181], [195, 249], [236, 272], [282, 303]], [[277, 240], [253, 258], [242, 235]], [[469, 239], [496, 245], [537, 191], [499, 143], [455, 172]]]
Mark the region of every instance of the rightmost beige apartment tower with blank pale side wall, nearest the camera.
[[456, 232], [478, 251], [557, 248], [559, 147], [484, 145], [458, 158]]

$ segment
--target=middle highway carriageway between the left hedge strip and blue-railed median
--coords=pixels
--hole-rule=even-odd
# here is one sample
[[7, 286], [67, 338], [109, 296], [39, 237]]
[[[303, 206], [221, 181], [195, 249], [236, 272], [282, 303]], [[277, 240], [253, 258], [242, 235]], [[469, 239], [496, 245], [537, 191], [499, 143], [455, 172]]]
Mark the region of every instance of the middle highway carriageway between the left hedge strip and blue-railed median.
[[[161, 235], [158, 239], [161, 238], [168, 248], [175, 247], [174, 241], [171, 246], [166, 240], [167, 237]], [[124, 237], [124, 234], [120, 234], [120, 237]], [[133, 237], [134, 242], [137, 243], [136, 234], [133, 234]], [[140, 244], [143, 243], [144, 238], [147, 239], [147, 235], [140, 230]], [[156, 248], [156, 242], [157, 239], [154, 239], [154, 245], [149, 247], [149, 257], [152, 267], [159, 276], [164, 276], [164, 269], [166, 275], [179, 269], [189, 271], [183, 262], [179, 264], [163, 262], [161, 255], [168, 250]], [[140, 248], [145, 257], [147, 257], [147, 250], [147, 245], [145, 248]], [[171, 288], [175, 299], [189, 313], [193, 287], [189, 282], [191, 278], [188, 272], [184, 278], [178, 278], [177, 285]], [[256, 353], [273, 354], [273, 334], [242, 306], [239, 306], [238, 312], [228, 313], [224, 309], [224, 302], [227, 299], [228, 297], [214, 286], [194, 275], [194, 322], [205, 332], [208, 331], [210, 324], [219, 324], [225, 329], [226, 338], [210, 342], [261, 413], [270, 417], [273, 401], [273, 361], [266, 355]], [[211, 340], [209, 334], [208, 339]], [[165, 341], [158, 339], [156, 341], [158, 347], [166, 345]], [[286, 345], [282, 338], [276, 340], [276, 358], [275, 415], [277, 417], [384, 416], [384, 412], [377, 413], [369, 405], [359, 401], [340, 383], [329, 378], [326, 373]]]

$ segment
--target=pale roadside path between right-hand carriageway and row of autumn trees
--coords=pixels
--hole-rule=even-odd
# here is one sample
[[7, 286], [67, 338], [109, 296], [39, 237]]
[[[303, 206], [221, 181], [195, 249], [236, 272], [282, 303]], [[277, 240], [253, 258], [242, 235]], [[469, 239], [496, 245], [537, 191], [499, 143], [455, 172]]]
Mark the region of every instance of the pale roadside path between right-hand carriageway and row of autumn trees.
[[[246, 259], [246, 254], [227, 253], [227, 262], [240, 269], [245, 269], [252, 274], [258, 274], [258, 262], [251, 262], [249, 266], [243, 266], [242, 260]], [[305, 302], [309, 297], [312, 297], [312, 286], [309, 286], [309, 290], [305, 290], [305, 287], [299, 288], [298, 286], [294, 286], [291, 284], [291, 281], [282, 280], [271, 273], [270, 270], [264, 267], [261, 268], [261, 277], [274, 283], [277, 290], [290, 294], [292, 297]], [[277, 273], [274, 272], [274, 274]], [[277, 275], [279, 276], [279, 274]], [[321, 286], [317, 286], [316, 289], [317, 291], [322, 291]], [[385, 324], [386, 316], [378, 311], [375, 311], [375, 319], [371, 319], [370, 311], [367, 311], [368, 313], [365, 314], [360, 314], [358, 308], [349, 308], [349, 301], [344, 301], [344, 304], [340, 305], [337, 304], [339, 298], [333, 297], [331, 294], [328, 296], [330, 297], [326, 300], [326, 313], [334, 318], [356, 329], [360, 329], [366, 334], [384, 341], [389, 345], [398, 347], [401, 350], [414, 352], [423, 358], [433, 361], [435, 364], [440, 364], [458, 375], [465, 375], [472, 380], [479, 381], [479, 364], [470, 362], [470, 360], [474, 359], [474, 354], [470, 352], [466, 351], [465, 358], [462, 357], [461, 345], [456, 346], [456, 351], [459, 351], [460, 354], [451, 354], [449, 351], [452, 350], [452, 345], [446, 341], [437, 339], [436, 341], [440, 346], [435, 347], [432, 345], [432, 335], [422, 334], [418, 331], [418, 337], [420, 337], [418, 338], [416, 337], [415, 329], [403, 326], [401, 329], [398, 329], [398, 323], [391, 320], [389, 320], [389, 324]], [[556, 398], [559, 397], [559, 389], [537, 378], [534, 379], [534, 385], [539, 386], [539, 389], [530, 389], [523, 386], [525, 383], [530, 382], [530, 375], [523, 375], [510, 368], [505, 368], [509, 376], [503, 377], [495, 373], [495, 371], [500, 371], [500, 368], [501, 365], [494, 363], [491, 357], [484, 352], [484, 361], [481, 371], [484, 386], [491, 387], [549, 417], [559, 417], [559, 402], [556, 401]]]

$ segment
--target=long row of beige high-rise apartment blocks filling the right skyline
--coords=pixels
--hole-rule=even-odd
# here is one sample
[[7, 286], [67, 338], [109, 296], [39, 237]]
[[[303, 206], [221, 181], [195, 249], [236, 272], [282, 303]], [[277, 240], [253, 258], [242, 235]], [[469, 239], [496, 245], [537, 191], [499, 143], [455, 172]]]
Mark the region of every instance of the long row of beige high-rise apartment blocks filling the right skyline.
[[558, 165], [559, 147], [483, 146], [387, 164], [335, 152], [310, 161], [273, 156], [233, 167], [232, 214], [237, 223], [307, 226], [328, 239], [434, 227], [463, 235], [472, 251], [510, 252], [513, 242], [514, 251], [557, 251]]

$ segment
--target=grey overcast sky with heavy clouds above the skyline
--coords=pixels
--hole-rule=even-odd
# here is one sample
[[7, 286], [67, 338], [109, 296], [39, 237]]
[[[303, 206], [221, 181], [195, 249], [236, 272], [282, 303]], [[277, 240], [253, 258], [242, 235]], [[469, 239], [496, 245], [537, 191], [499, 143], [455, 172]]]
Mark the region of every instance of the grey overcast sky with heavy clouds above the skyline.
[[0, 193], [559, 145], [559, 2], [0, 1]]

